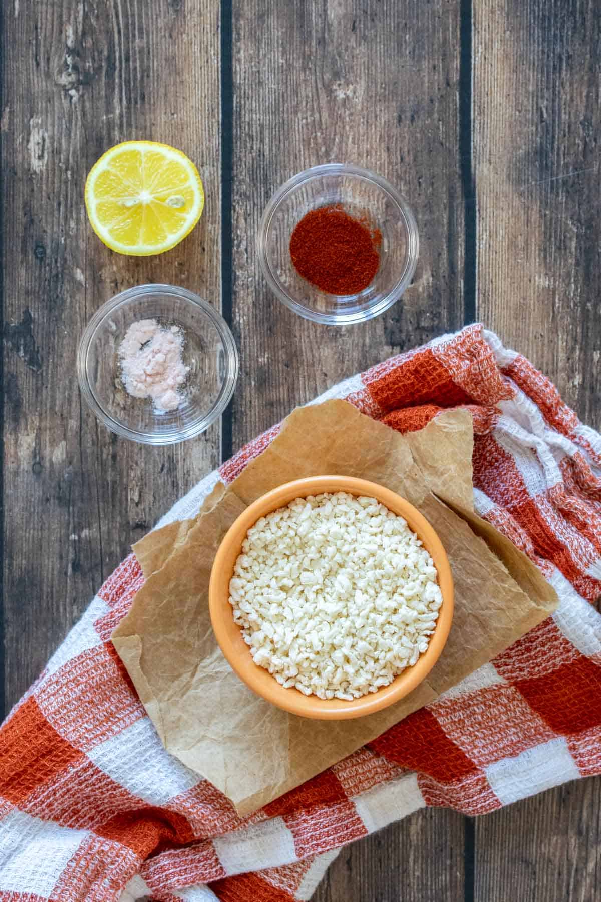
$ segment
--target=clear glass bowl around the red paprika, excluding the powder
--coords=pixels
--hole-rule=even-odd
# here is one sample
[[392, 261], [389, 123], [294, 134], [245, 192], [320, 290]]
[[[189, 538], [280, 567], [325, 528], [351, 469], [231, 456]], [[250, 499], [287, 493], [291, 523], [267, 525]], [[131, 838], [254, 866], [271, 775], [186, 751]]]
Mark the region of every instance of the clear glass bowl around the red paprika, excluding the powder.
[[[331, 204], [366, 217], [382, 233], [378, 272], [358, 294], [327, 294], [299, 275], [290, 257], [296, 223], [310, 210]], [[269, 287], [287, 307], [317, 323], [344, 325], [378, 317], [401, 297], [414, 274], [419, 235], [405, 198], [385, 179], [357, 166], [327, 163], [299, 172], [271, 198], [261, 217], [258, 246]]]

